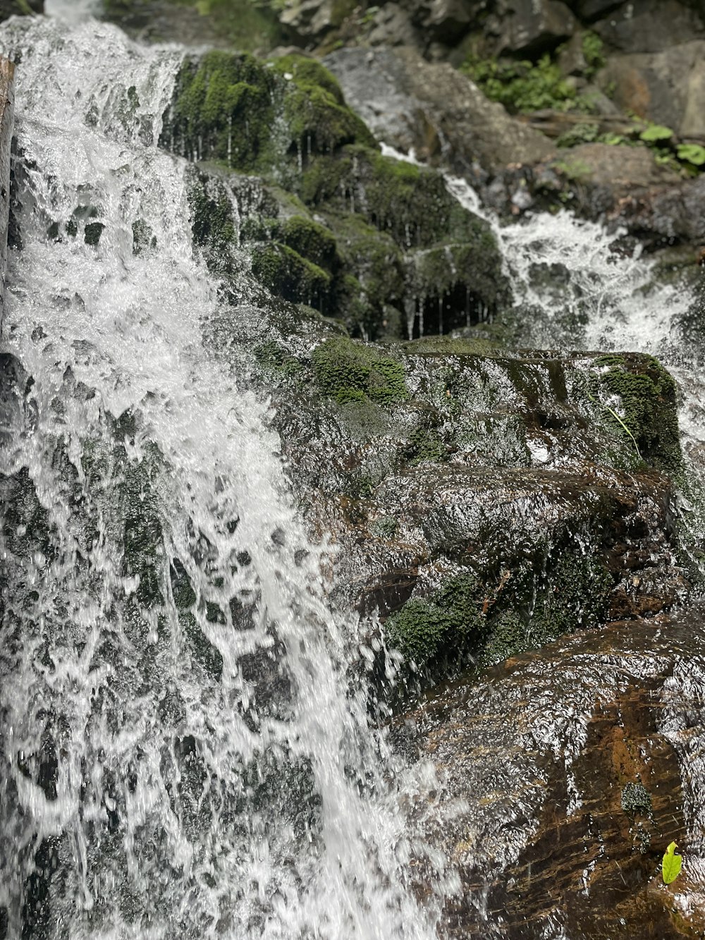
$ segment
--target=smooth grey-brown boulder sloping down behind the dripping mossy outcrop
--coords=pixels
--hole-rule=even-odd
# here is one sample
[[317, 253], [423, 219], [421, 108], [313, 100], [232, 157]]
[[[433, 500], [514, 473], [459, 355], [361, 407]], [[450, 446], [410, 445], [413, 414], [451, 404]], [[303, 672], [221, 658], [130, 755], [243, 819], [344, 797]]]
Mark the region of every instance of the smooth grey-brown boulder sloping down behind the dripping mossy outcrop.
[[373, 133], [424, 159], [472, 172], [476, 162], [496, 170], [553, 153], [542, 134], [510, 118], [460, 72], [412, 49], [341, 49], [325, 63]]

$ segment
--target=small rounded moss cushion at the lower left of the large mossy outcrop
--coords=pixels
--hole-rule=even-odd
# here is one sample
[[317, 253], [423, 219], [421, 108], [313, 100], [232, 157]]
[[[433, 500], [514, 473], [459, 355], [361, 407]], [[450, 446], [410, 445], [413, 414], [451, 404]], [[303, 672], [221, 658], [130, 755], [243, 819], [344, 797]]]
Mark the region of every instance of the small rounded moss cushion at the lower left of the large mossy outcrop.
[[253, 248], [252, 273], [285, 300], [321, 310], [328, 305], [331, 275], [289, 245], [273, 242]]

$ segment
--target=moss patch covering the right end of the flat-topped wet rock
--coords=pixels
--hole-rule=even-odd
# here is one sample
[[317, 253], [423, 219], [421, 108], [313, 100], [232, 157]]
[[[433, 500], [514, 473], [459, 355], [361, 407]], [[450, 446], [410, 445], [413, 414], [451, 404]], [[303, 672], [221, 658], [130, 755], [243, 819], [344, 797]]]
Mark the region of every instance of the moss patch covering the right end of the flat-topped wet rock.
[[676, 384], [650, 355], [603, 355], [594, 360], [590, 392], [603, 418], [620, 436], [631, 434], [638, 457], [673, 476], [682, 475]]

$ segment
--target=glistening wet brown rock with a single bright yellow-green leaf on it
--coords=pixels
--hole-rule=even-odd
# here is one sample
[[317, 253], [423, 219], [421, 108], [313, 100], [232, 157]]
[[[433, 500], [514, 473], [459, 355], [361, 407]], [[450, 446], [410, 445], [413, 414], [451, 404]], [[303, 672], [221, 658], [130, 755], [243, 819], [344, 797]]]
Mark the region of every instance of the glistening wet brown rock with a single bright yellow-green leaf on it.
[[438, 775], [409, 809], [458, 878], [442, 936], [702, 936], [702, 617], [564, 638], [399, 719]]

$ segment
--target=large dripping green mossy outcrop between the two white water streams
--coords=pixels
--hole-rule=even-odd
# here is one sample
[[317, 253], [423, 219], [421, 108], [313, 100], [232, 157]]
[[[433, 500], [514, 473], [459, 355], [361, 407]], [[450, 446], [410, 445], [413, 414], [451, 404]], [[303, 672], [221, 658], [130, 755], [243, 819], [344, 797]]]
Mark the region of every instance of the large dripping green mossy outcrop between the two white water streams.
[[340, 317], [352, 336], [444, 333], [509, 305], [487, 223], [436, 170], [381, 154], [314, 59], [187, 57], [160, 143], [201, 164], [190, 198], [211, 270], [227, 273], [242, 245], [268, 290]]

